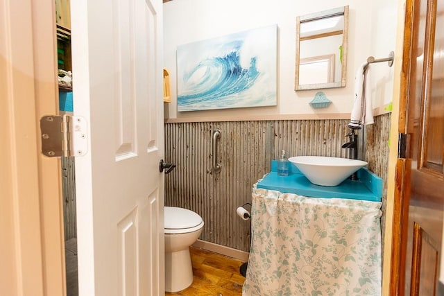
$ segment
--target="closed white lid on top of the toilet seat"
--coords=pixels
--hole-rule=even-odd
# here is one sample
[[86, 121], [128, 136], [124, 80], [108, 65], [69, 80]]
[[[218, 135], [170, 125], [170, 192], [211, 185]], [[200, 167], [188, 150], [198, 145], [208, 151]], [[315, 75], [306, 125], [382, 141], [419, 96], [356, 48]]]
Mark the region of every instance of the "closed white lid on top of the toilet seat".
[[187, 229], [196, 227], [202, 223], [202, 218], [180, 207], [165, 207], [165, 229]]

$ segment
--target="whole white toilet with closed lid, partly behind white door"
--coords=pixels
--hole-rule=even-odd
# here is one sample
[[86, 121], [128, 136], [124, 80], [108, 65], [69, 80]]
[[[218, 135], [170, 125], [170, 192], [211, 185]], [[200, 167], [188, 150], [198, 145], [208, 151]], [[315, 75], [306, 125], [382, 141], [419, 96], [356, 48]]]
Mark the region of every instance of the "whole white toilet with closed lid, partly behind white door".
[[178, 292], [193, 283], [189, 246], [200, 236], [202, 218], [179, 207], [165, 207], [165, 291]]

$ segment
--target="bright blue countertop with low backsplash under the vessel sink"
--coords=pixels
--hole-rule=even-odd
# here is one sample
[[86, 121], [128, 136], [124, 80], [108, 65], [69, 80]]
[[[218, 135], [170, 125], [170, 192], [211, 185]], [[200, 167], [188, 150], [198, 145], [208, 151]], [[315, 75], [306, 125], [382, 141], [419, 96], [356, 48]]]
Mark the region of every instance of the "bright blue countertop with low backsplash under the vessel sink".
[[294, 164], [289, 163], [289, 175], [280, 176], [277, 162], [271, 161], [271, 172], [257, 183], [257, 188], [294, 193], [311, 198], [348, 198], [380, 202], [382, 179], [367, 168], [357, 171], [357, 181], [346, 179], [338, 186], [319, 186], [311, 183]]

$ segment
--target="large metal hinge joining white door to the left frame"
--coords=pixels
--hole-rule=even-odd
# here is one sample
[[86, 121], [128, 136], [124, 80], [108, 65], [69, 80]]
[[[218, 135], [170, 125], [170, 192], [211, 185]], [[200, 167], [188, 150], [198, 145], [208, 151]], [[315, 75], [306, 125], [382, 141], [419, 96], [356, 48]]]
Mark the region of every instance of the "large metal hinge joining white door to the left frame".
[[88, 150], [87, 125], [83, 117], [48, 115], [40, 119], [42, 154], [47, 157], [83, 156]]

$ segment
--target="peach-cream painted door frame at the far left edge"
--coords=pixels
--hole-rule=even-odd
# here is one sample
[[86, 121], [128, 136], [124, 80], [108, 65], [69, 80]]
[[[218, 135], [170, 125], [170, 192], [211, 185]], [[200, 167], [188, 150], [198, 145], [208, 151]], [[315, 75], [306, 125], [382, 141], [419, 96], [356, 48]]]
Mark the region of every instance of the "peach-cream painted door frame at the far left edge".
[[0, 2], [0, 287], [65, 295], [60, 159], [40, 153], [39, 125], [58, 113], [55, 3]]

